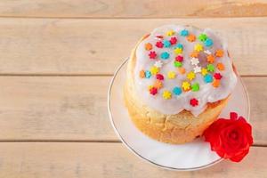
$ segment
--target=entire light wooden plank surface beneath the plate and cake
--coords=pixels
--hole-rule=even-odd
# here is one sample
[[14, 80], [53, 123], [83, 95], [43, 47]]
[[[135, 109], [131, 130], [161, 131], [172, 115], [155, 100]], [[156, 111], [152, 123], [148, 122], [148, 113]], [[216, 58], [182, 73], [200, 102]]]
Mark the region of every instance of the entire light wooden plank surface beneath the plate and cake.
[[[266, 0], [2, 0], [0, 177], [267, 177], [266, 16]], [[228, 39], [251, 100], [255, 143], [243, 162], [166, 171], [114, 134], [112, 74], [143, 34], [169, 23]]]

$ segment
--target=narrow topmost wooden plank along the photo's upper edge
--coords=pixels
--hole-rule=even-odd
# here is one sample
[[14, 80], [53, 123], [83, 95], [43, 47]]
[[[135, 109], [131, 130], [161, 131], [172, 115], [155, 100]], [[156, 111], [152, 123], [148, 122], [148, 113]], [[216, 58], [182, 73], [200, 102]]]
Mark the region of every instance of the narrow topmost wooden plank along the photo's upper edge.
[[266, 16], [264, 0], [4, 0], [0, 16], [61, 18], [172, 18]]

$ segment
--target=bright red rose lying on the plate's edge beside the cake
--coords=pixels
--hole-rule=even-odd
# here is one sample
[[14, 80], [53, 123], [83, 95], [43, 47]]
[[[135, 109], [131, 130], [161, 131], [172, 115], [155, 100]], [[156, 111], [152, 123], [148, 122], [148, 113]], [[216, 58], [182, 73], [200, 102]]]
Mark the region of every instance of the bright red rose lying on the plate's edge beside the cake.
[[221, 158], [230, 158], [239, 162], [248, 153], [253, 143], [251, 125], [244, 117], [231, 112], [231, 119], [219, 118], [204, 132], [206, 142], [210, 142], [211, 150]]

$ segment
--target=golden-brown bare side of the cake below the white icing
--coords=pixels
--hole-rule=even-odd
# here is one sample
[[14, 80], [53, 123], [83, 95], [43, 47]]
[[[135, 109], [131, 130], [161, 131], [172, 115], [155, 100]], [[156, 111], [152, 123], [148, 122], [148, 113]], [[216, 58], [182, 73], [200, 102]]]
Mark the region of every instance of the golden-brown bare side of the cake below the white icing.
[[[143, 36], [140, 42], [147, 36]], [[134, 125], [143, 134], [159, 142], [174, 144], [191, 142], [214, 122], [227, 104], [229, 97], [214, 103], [207, 103], [206, 110], [198, 117], [194, 117], [187, 110], [182, 110], [175, 115], [166, 115], [151, 109], [142, 103], [134, 89], [135, 50], [138, 44], [134, 47], [128, 61], [127, 80], [124, 88], [125, 106]]]

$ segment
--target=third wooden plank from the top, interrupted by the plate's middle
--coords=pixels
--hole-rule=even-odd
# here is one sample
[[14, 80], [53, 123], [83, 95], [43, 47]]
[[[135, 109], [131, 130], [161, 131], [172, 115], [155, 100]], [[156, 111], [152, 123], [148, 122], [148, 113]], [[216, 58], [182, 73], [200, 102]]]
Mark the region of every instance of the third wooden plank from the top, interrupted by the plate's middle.
[[[117, 141], [107, 109], [110, 79], [0, 77], [0, 141]], [[243, 79], [255, 144], [267, 145], [267, 77]]]

